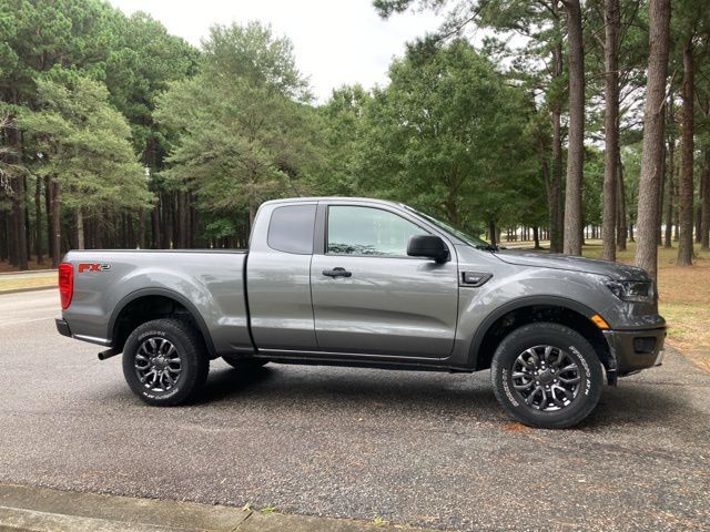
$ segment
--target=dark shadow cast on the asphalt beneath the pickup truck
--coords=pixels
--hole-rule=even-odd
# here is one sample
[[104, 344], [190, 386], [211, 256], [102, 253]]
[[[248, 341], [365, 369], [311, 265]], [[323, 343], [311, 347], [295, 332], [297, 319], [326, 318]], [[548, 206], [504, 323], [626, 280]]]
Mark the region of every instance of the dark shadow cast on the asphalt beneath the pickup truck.
[[[194, 406], [293, 411], [318, 415], [374, 411], [463, 422], [501, 422], [509, 418], [498, 406], [488, 372], [449, 375], [375, 369], [270, 365], [251, 371], [213, 369]], [[592, 415], [572, 430], [616, 426], [678, 426], [687, 430], [689, 406], [681, 387], [652, 386], [623, 379], [606, 387]]]

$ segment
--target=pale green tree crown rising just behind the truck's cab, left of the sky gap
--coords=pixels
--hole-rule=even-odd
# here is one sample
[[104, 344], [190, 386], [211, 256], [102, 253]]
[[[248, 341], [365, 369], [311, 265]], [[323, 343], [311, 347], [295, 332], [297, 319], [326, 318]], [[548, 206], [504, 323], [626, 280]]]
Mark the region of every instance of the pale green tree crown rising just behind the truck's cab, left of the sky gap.
[[297, 195], [315, 151], [306, 83], [291, 44], [268, 28], [215, 27], [201, 72], [159, 100], [158, 121], [179, 133], [163, 174], [223, 214], [284, 194]]

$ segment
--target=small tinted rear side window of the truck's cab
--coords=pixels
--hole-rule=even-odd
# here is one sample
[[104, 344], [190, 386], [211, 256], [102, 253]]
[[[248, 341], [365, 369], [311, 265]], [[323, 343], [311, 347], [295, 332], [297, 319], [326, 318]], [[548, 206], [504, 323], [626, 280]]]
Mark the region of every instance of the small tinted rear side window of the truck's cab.
[[315, 205], [276, 207], [268, 222], [266, 243], [272, 249], [298, 255], [313, 253]]

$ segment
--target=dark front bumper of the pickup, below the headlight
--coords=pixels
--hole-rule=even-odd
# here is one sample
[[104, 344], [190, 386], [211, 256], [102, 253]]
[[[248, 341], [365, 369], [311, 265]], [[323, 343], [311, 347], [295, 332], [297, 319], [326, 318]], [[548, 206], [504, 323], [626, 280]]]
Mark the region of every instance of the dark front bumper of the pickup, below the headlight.
[[663, 360], [666, 327], [639, 330], [605, 330], [619, 377], [660, 366]]

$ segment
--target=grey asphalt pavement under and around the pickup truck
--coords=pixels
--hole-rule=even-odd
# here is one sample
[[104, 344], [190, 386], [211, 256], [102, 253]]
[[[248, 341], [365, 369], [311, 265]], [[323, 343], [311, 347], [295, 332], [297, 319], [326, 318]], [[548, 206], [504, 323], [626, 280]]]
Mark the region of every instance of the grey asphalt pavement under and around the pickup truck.
[[54, 290], [0, 296], [0, 482], [458, 530], [710, 530], [710, 374], [669, 352], [581, 427], [511, 423], [488, 372], [212, 365], [144, 406], [59, 336]]

